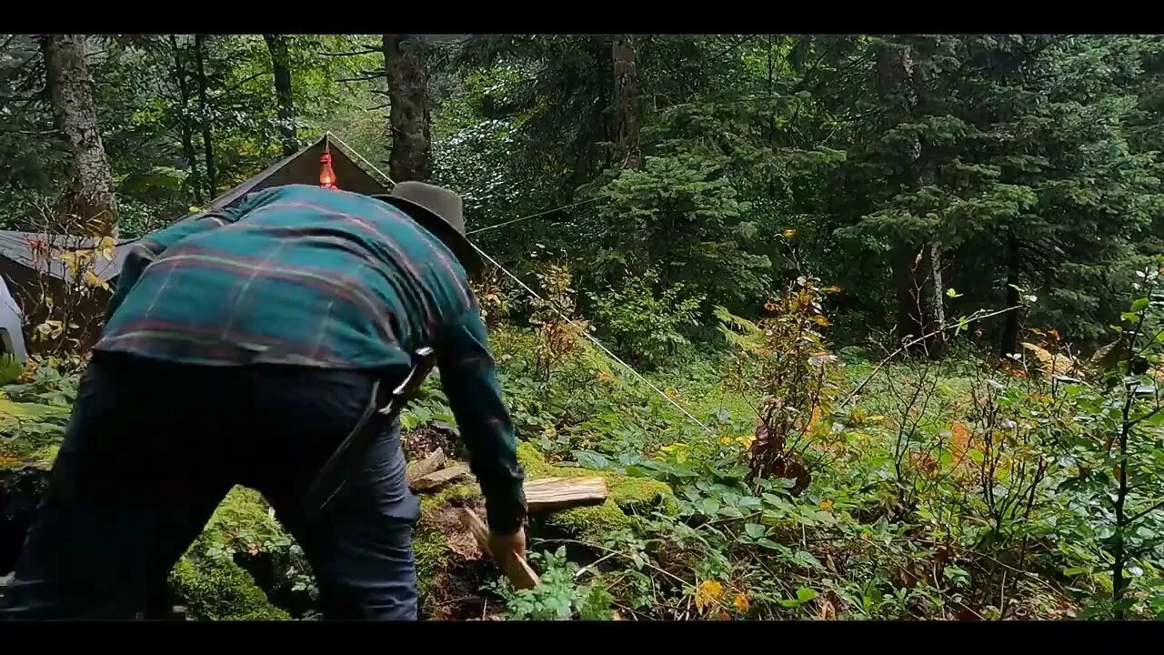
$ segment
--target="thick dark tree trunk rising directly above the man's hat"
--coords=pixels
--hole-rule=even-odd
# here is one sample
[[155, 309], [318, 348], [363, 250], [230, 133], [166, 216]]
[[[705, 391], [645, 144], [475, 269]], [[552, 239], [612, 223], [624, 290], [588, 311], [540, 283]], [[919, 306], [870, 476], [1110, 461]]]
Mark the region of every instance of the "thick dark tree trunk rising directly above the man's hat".
[[428, 71], [419, 36], [385, 34], [384, 70], [391, 110], [389, 175], [393, 181], [427, 179], [432, 165]]

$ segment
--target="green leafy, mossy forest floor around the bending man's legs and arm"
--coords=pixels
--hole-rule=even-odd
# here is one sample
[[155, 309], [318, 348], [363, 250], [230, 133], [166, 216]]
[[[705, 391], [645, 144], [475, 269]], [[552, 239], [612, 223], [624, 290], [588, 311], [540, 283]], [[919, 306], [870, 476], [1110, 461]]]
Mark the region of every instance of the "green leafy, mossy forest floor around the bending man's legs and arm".
[[[1059, 619], [1164, 607], [1150, 545], [1128, 562], [1122, 604], [1109, 601], [1112, 527], [1088, 495], [1099, 487], [1079, 481], [1084, 446], [1050, 450], [1087, 403], [1052, 388], [1037, 357], [1007, 372], [963, 355], [880, 367], [843, 350], [829, 393], [781, 435], [781, 462], [799, 466], [752, 478], [758, 436], [776, 442], [758, 430], [762, 369], [743, 387], [729, 359], [653, 373], [698, 425], [585, 347], [548, 374], [530, 331], [499, 328], [494, 348], [530, 477], [602, 476], [610, 500], [535, 517], [541, 585], [514, 591], [456, 519], [480, 509], [471, 477], [425, 494], [416, 550], [427, 619]], [[435, 448], [463, 456], [438, 376], [403, 417], [412, 460]], [[0, 575], [74, 394], [76, 375], [50, 365], [3, 387]], [[1149, 520], [1136, 528], [1158, 534]], [[318, 615], [301, 551], [242, 488], [171, 583], [189, 618]]]

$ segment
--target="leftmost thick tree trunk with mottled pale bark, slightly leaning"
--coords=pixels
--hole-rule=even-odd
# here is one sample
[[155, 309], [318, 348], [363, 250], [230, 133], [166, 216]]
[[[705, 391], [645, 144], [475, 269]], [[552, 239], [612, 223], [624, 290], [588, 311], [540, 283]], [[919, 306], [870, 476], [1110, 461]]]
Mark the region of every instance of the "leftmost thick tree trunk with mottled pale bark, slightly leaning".
[[93, 80], [85, 65], [85, 36], [45, 34], [40, 41], [57, 126], [72, 150], [62, 210], [74, 216], [86, 231], [116, 238], [113, 176], [97, 122]]

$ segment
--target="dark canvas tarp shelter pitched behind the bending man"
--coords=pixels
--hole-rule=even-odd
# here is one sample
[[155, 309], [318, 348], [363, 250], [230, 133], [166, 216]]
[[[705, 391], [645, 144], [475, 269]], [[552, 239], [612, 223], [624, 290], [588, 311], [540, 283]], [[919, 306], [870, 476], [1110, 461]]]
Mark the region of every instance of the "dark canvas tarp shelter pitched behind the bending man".
[[[319, 156], [324, 154], [325, 147], [332, 153], [332, 170], [335, 171], [336, 186], [345, 191], [354, 191], [363, 195], [389, 192], [392, 181], [379, 171], [375, 171], [376, 175], [374, 175], [374, 171], [368, 170], [368, 168], [371, 168], [370, 164], [365, 167], [357, 164], [356, 160], [362, 160], [362, 157], [348, 147], [347, 143], [343, 143], [339, 138], [328, 132], [314, 143], [293, 155], [284, 157], [262, 172], [218, 196], [206, 205], [206, 209], [217, 210], [226, 207], [246, 197], [247, 193], [268, 186], [319, 184]], [[182, 220], [192, 218], [192, 216], [185, 217]], [[45, 263], [37, 261], [37, 258], [33, 254], [30, 239], [45, 239], [45, 235], [35, 232], [0, 231], [0, 258], [26, 268], [44, 272]], [[90, 248], [93, 245], [92, 239], [85, 237], [50, 234], [48, 239], [51, 242], [54, 255], [69, 249]], [[126, 254], [129, 252], [130, 246], [132, 242], [118, 246], [112, 261], [99, 259], [94, 273], [101, 280], [112, 282], [121, 274], [121, 266], [125, 263]], [[49, 263], [48, 273], [61, 280], [64, 280], [68, 275], [64, 263], [56, 256]]]

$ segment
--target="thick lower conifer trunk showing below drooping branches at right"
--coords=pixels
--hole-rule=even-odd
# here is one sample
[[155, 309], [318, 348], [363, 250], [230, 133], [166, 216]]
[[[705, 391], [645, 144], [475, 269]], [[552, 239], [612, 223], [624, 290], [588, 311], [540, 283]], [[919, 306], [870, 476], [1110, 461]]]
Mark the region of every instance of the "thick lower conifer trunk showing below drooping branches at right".
[[[897, 248], [894, 253], [894, 286], [897, 290], [900, 339], [913, 341], [942, 326], [945, 308], [942, 304], [942, 259], [936, 245]], [[927, 337], [918, 345], [928, 357], [937, 358], [945, 350], [945, 333]]]

